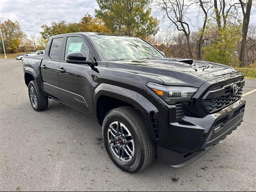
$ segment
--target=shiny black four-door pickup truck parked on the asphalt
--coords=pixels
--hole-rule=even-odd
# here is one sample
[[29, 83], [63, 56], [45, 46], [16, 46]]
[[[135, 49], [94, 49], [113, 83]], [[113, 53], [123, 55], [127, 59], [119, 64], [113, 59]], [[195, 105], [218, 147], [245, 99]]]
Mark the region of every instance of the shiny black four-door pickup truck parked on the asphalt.
[[176, 168], [189, 164], [244, 116], [243, 74], [166, 58], [141, 38], [52, 36], [44, 56], [25, 58], [23, 69], [34, 110], [45, 110], [50, 98], [94, 116], [111, 160], [131, 173], [155, 156]]

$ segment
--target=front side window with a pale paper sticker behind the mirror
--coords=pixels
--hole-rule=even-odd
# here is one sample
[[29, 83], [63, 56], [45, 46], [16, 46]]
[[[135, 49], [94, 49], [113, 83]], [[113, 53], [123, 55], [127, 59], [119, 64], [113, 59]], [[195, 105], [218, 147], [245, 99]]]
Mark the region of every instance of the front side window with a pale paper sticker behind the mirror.
[[89, 48], [80, 37], [68, 37], [65, 58], [67, 54], [72, 52], [83, 52], [86, 55], [86, 60], [88, 61], [89, 57]]

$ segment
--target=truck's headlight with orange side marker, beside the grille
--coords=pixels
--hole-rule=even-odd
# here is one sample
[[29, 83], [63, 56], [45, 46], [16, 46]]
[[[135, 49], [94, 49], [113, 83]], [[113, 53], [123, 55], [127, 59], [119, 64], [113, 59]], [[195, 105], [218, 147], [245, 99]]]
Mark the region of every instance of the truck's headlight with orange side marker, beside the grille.
[[152, 91], [158, 94], [167, 104], [175, 104], [176, 102], [191, 101], [193, 95], [197, 92], [197, 88], [182, 86], [164, 86], [156, 83], [147, 83]]

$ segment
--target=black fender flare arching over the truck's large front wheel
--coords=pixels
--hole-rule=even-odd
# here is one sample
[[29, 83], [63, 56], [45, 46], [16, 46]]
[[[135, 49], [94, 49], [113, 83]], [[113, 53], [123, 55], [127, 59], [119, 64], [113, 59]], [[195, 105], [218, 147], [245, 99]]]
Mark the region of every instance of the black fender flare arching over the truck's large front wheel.
[[123, 102], [126, 102], [134, 106], [144, 117], [150, 136], [153, 140], [156, 140], [156, 134], [153, 128], [152, 119], [158, 118], [158, 109], [147, 98], [135, 92], [123, 87], [102, 83], [93, 92], [94, 98], [94, 116], [98, 120], [97, 116], [97, 103], [101, 96], [108, 96], [116, 98]]

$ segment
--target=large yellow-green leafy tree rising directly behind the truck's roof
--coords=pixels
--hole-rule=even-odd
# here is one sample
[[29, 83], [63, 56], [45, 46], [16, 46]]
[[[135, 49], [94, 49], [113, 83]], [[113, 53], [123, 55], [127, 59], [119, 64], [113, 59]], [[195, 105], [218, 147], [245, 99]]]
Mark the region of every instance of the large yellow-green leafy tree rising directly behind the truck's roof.
[[96, 0], [95, 16], [102, 19], [112, 33], [148, 37], [155, 35], [158, 20], [151, 14], [151, 0]]

